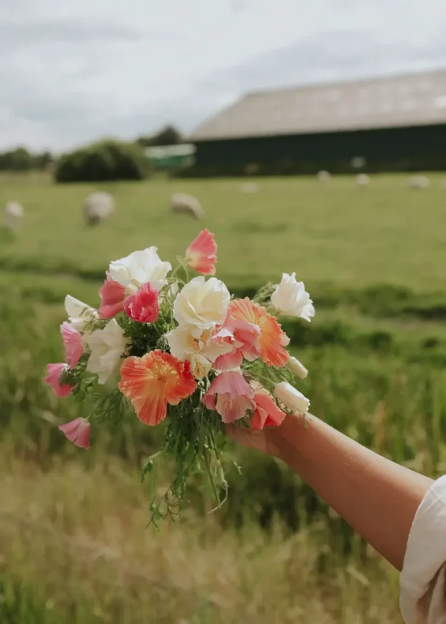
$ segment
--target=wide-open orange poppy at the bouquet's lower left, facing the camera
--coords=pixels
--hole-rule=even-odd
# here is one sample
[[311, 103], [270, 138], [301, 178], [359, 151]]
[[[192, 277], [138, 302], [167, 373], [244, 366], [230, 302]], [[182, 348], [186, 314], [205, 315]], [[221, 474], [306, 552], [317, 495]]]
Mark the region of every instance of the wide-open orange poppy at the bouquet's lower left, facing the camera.
[[132, 402], [139, 420], [155, 425], [166, 418], [167, 404], [178, 405], [195, 391], [197, 382], [189, 362], [155, 349], [122, 362], [118, 387]]

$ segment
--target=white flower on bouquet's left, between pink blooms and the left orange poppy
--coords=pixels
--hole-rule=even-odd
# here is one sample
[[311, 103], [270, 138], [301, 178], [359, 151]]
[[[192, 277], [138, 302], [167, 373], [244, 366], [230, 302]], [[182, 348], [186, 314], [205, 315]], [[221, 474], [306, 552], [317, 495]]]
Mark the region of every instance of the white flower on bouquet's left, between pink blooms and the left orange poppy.
[[86, 369], [98, 375], [98, 383], [106, 383], [111, 375], [118, 372], [128, 338], [113, 318], [105, 328], [94, 330], [87, 342], [91, 354]]

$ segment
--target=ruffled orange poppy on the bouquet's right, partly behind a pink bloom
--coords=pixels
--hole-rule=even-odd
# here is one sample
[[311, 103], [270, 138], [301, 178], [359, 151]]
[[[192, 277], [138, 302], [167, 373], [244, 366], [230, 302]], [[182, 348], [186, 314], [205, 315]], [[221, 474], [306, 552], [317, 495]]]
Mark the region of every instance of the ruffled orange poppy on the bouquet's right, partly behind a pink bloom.
[[277, 318], [248, 297], [231, 301], [228, 316], [258, 325], [261, 329], [258, 345], [263, 362], [270, 366], [285, 366], [289, 356], [284, 347], [289, 344], [290, 338], [282, 330]]

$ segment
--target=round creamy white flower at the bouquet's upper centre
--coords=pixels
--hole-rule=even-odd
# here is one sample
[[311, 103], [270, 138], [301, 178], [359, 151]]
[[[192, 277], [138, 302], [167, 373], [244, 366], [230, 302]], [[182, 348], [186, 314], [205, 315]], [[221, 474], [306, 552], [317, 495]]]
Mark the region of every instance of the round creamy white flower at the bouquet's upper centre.
[[176, 296], [173, 316], [179, 325], [206, 329], [222, 325], [229, 305], [229, 290], [215, 277], [194, 277]]

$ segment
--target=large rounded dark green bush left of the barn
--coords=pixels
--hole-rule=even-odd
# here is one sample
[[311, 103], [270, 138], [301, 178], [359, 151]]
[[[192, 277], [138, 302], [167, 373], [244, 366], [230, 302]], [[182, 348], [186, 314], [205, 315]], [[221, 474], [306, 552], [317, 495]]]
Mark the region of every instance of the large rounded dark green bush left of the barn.
[[56, 182], [142, 180], [148, 173], [149, 162], [141, 146], [135, 143], [101, 141], [64, 154], [55, 168], [55, 180]]

